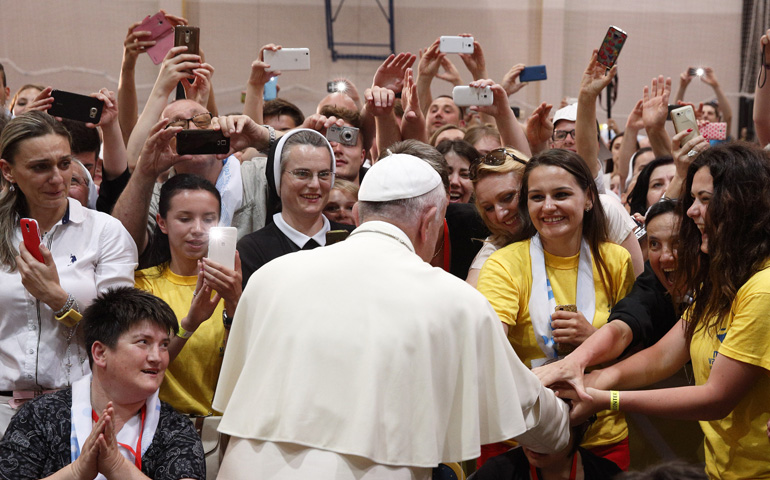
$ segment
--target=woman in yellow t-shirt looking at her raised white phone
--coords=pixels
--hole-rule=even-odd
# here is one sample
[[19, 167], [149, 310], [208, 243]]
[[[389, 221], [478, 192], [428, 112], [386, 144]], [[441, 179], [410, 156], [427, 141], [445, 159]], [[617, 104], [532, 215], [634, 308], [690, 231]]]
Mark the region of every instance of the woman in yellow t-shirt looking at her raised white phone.
[[136, 287], [174, 310], [179, 331], [171, 339], [171, 363], [160, 399], [185, 414], [211, 415], [229, 318], [241, 296], [241, 269], [204, 258], [208, 231], [219, 222], [221, 199], [208, 180], [175, 175], [160, 191], [149, 263], [136, 272]]

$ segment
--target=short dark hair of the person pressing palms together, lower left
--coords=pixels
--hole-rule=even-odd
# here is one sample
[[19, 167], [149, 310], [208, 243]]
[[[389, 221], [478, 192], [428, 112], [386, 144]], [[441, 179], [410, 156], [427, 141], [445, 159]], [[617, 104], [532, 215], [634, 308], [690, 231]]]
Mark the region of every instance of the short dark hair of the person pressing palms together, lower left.
[[100, 293], [83, 312], [80, 321], [89, 365], [94, 363], [91, 347], [95, 342], [115, 348], [121, 335], [143, 322], [156, 325], [169, 334], [179, 326], [171, 307], [149, 292], [134, 287], [117, 287]]

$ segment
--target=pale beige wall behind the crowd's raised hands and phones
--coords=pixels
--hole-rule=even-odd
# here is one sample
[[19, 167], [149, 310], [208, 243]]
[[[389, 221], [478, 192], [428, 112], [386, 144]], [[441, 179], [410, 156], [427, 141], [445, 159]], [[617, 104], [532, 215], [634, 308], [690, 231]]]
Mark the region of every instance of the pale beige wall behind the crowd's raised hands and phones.
[[[553, 103], [576, 95], [591, 50], [598, 48], [612, 24], [629, 34], [619, 61], [620, 95], [613, 110], [620, 122], [654, 75], [673, 77], [676, 88], [679, 73], [688, 65], [713, 66], [737, 113], [741, 4], [739, 0], [396, 0], [396, 49], [417, 53], [439, 35], [469, 32], [481, 42], [489, 73], [498, 81], [515, 63], [545, 63], [549, 80], [533, 83], [512, 97], [514, 104], [528, 111], [541, 100]], [[363, 92], [378, 65], [331, 61], [320, 0], [0, 0], [0, 62], [11, 90], [23, 83], [80, 92], [102, 86], [116, 89], [128, 26], [160, 7], [184, 13], [191, 24], [201, 27], [201, 46], [216, 68], [221, 112], [240, 110], [249, 65], [265, 43], [310, 47], [312, 70], [287, 72], [279, 79], [281, 96], [306, 113], [325, 94], [327, 80], [348, 76]], [[335, 33], [343, 41], [387, 42], [386, 23], [374, 0], [347, 0]], [[460, 59], [453, 60], [463, 78], [470, 80]], [[156, 75], [157, 67], [141, 58], [136, 72], [140, 103]], [[712, 97], [711, 89], [697, 81], [689, 90], [690, 100]], [[434, 83], [434, 94], [449, 91], [448, 84]]]

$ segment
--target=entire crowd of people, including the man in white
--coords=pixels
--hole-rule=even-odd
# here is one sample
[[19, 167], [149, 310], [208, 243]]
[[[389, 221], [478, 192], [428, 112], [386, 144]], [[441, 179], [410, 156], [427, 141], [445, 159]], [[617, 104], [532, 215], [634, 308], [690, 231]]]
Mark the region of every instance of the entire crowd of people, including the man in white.
[[[0, 65], [0, 478], [648, 478], [631, 412], [703, 431], [702, 465], [649, 478], [770, 478], [761, 76], [754, 143], [710, 67], [674, 96], [653, 78], [605, 141], [617, 66], [588, 49], [576, 102], [519, 119], [524, 65], [490, 79], [477, 41], [459, 57], [491, 105], [433, 97], [462, 84], [437, 39], [314, 112], [265, 100], [265, 45], [227, 115], [173, 47], [140, 109], [139, 25], [97, 123], [50, 115], [55, 85], [11, 97]], [[726, 140], [668, 133], [695, 78]], [[229, 151], [177, 153], [188, 130]]]

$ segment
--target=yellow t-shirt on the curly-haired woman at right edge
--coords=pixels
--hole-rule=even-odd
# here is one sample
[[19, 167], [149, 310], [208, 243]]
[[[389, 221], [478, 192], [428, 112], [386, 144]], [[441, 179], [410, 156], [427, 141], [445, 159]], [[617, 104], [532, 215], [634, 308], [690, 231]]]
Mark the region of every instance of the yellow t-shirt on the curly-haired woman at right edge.
[[690, 358], [697, 385], [709, 378], [717, 353], [763, 368], [757, 382], [721, 420], [700, 422], [706, 473], [724, 480], [770, 478], [770, 262], [738, 289], [731, 314], [716, 335], [693, 335]]

